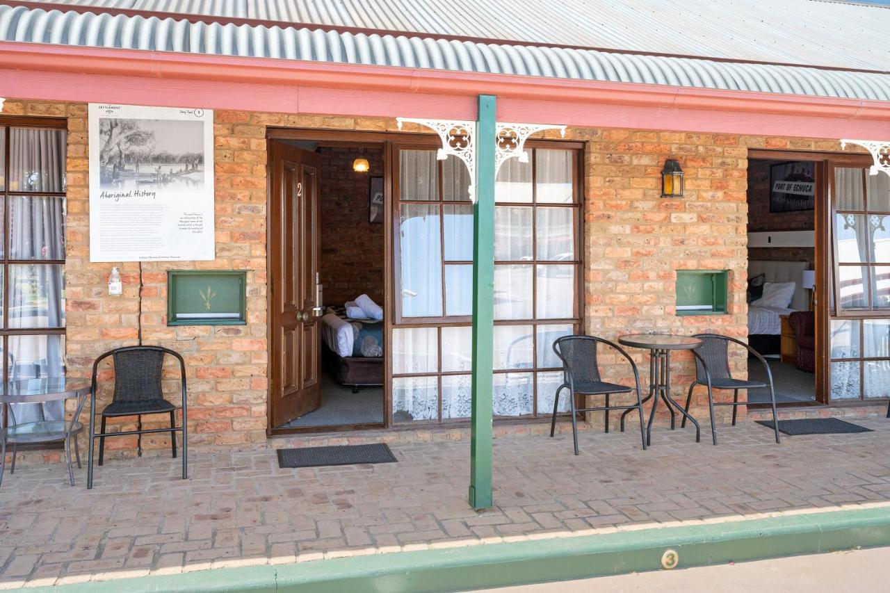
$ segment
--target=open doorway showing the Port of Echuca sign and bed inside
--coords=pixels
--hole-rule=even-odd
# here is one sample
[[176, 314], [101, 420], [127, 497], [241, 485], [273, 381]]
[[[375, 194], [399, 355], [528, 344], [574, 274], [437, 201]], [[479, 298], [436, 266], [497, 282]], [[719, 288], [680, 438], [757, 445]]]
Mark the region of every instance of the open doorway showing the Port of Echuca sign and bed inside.
[[[801, 405], [819, 399], [813, 290], [824, 184], [820, 162], [789, 156], [748, 159], [748, 343], [770, 366], [776, 402]], [[767, 379], [754, 359], [748, 378]], [[768, 389], [748, 394], [769, 401]]]

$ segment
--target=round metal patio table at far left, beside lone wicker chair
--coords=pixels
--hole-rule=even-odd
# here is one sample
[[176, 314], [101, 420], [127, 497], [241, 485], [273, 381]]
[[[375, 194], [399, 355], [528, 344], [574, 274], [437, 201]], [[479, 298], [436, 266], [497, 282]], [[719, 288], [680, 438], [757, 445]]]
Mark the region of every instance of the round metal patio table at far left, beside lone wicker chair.
[[[4, 383], [3, 393], [0, 394], [0, 413], [6, 412], [6, 422], [9, 426], [0, 429], [0, 484], [3, 483], [3, 474], [6, 467], [6, 445], [12, 444], [12, 467], [10, 473], [15, 471], [15, 453], [19, 443], [55, 443], [64, 441], [65, 459], [68, 461], [68, 476], [71, 485], [74, 485], [74, 468], [71, 467], [71, 436], [77, 435], [84, 429], [84, 425], [78, 421], [80, 411], [84, 408], [86, 396], [90, 393], [90, 382], [85, 379], [75, 378], [32, 378], [20, 381]], [[44, 402], [63, 402], [65, 400], [77, 400], [77, 407], [70, 420], [37, 420], [36, 422], [23, 422], [15, 424], [15, 410], [11, 404], [34, 403], [41, 405]], [[41, 414], [41, 416], [43, 416]], [[80, 451], [77, 439], [74, 439], [74, 451], [77, 457], [77, 467], [80, 467]]]

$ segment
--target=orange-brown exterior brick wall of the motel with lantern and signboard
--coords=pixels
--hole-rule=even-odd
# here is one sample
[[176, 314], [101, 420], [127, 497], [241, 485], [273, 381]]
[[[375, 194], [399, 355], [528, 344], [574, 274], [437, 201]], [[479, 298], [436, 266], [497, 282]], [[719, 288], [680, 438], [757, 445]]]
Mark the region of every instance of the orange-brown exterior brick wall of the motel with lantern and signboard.
[[[112, 297], [106, 282], [114, 264], [89, 263], [86, 106], [7, 100], [4, 114], [17, 113], [69, 119], [69, 375], [87, 377], [98, 354], [135, 344], [141, 334], [145, 343], [167, 345], [186, 359], [190, 443], [263, 442], [268, 387], [266, 127], [394, 132], [395, 121], [216, 111], [216, 260], [118, 264], [124, 295]], [[409, 126], [407, 131], [420, 130]], [[725, 134], [570, 128], [567, 137], [586, 142], [586, 329], [608, 338], [630, 331], [709, 330], [745, 337], [748, 147], [839, 150], [837, 142]], [[668, 156], [679, 158], [684, 167], [682, 199], [659, 196], [659, 172]], [[367, 203], [360, 210], [367, 213]], [[247, 325], [167, 327], [166, 270], [173, 267], [248, 270]], [[729, 313], [677, 317], [678, 269], [732, 270]], [[633, 354], [645, 380], [645, 353]], [[617, 359], [603, 361], [610, 378], [627, 380]], [[745, 365], [743, 355], [734, 356], [740, 373]], [[106, 370], [103, 377], [109, 374]], [[674, 357], [672, 378], [675, 395], [684, 394], [692, 379], [689, 355]], [[101, 400], [107, 397], [107, 391], [101, 394]], [[697, 401], [704, 402], [701, 394]], [[698, 416], [707, 418], [703, 410]], [[133, 418], [123, 421], [123, 426], [132, 424]], [[167, 438], [146, 437], [143, 445], [166, 447]], [[134, 448], [126, 439], [110, 439], [108, 445]]]

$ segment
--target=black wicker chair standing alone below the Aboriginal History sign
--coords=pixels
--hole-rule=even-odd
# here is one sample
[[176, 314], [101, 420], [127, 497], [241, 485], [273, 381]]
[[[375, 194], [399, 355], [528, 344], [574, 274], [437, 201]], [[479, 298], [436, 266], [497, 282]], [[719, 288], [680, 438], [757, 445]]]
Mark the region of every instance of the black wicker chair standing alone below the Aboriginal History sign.
[[[182, 378], [182, 426], [176, 427], [176, 406], [166, 401], [161, 388], [161, 371], [167, 354], [179, 361]], [[101, 411], [100, 433], [95, 432], [97, 374], [99, 364], [109, 356], [114, 361], [114, 394], [111, 403]], [[176, 433], [182, 433], [182, 479], [188, 477], [188, 433], [186, 431], [186, 381], [185, 361], [182, 356], [163, 346], [125, 346], [109, 350], [93, 362], [93, 390], [90, 394], [90, 451], [86, 471], [86, 487], [93, 488], [93, 442], [99, 438], [99, 465], [104, 461], [105, 438], [109, 436], [136, 435], [138, 455], [142, 457], [142, 435], [170, 433], [173, 456], [176, 457]], [[169, 428], [142, 430], [142, 416], [149, 414], [169, 414]], [[136, 430], [117, 433], [105, 432], [107, 418], [135, 416]]]

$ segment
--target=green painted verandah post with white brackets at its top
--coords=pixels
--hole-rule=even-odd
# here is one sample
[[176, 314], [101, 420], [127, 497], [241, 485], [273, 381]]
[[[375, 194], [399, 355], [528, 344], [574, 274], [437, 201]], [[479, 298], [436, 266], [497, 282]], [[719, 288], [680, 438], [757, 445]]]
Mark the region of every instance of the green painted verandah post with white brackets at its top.
[[494, 369], [495, 124], [497, 99], [479, 95], [473, 207], [473, 410], [470, 506], [491, 506], [491, 395]]

